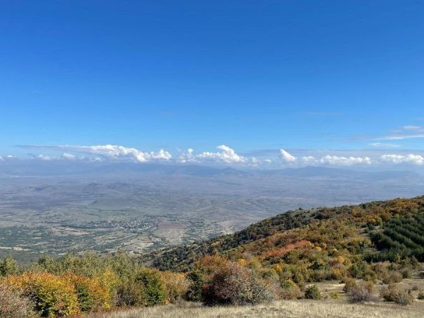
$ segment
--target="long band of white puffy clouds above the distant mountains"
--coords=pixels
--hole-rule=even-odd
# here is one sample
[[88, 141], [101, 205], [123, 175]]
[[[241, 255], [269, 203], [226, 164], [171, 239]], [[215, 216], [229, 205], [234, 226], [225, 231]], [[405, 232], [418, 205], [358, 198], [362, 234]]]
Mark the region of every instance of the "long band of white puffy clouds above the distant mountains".
[[[412, 128], [411, 128], [412, 129]], [[286, 149], [237, 153], [230, 146], [219, 145], [216, 151], [196, 152], [193, 148], [179, 150], [172, 155], [169, 151], [141, 151], [137, 148], [119, 145], [96, 146], [20, 146], [37, 151], [48, 151], [31, 155], [36, 160], [86, 160], [86, 161], [128, 161], [136, 163], [176, 163], [203, 165], [240, 165], [250, 167], [302, 167], [324, 166], [377, 166], [377, 165], [424, 165], [424, 153], [402, 153], [401, 151], [295, 151]], [[60, 152], [55, 155], [54, 152]], [[366, 154], [365, 154], [365, 153]], [[252, 154], [252, 153], [251, 153]], [[0, 157], [4, 161], [5, 157]]]

